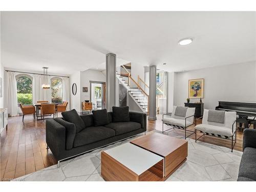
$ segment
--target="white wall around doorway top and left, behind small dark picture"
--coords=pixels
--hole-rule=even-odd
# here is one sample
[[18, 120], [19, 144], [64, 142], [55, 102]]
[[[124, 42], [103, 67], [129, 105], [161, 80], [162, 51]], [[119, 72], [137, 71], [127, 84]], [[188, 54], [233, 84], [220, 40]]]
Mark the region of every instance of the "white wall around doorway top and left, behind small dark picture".
[[[90, 69], [81, 72], [81, 101], [90, 100], [90, 81], [105, 82], [106, 76], [101, 71]], [[88, 87], [88, 92], [82, 92], [83, 87]]]

